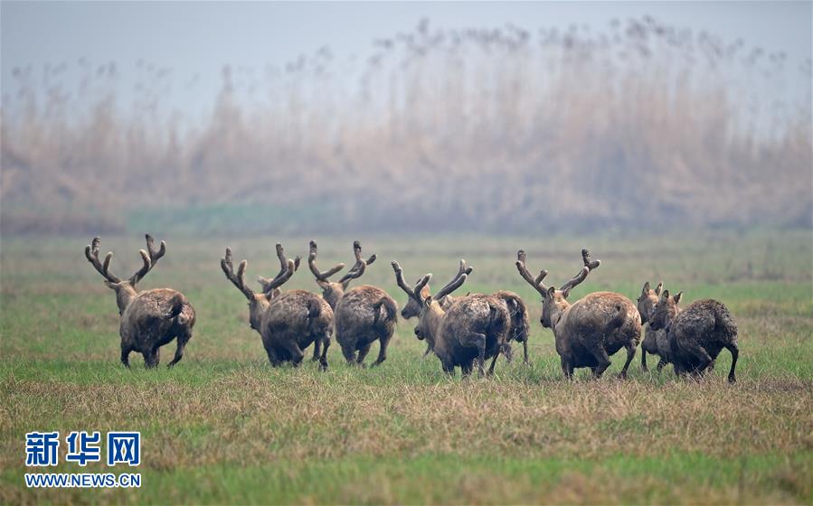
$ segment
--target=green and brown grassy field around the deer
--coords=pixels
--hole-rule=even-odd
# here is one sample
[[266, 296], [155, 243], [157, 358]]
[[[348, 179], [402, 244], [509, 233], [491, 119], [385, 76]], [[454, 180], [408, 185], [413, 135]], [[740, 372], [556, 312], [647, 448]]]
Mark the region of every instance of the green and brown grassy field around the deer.
[[[218, 262], [229, 245], [249, 260], [250, 277], [273, 275], [273, 242], [304, 256], [309, 238], [159, 239], [167, 255], [141, 287], [182, 290], [198, 314], [173, 370], [145, 370], [137, 355], [131, 370], [118, 362], [115, 298], [82, 254], [90, 238], [4, 239], [0, 502], [813, 503], [808, 231], [358, 238], [379, 258], [364, 282], [399, 304], [391, 259], [408, 280], [432, 272], [440, 285], [465, 257], [475, 271], [461, 291], [525, 297], [533, 365], [501, 360], [489, 379], [449, 379], [437, 359], [421, 361], [413, 321], [399, 323], [381, 368], [348, 368], [334, 343], [326, 373], [312, 362], [271, 369], [245, 299]], [[320, 265], [349, 265], [350, 239], [321, 238]], [[578, 271], [583, 246], [603, 262], [572, 300], [600, 289], [635, 298], [645, 281], [663, 280], [685, 291], [685, 304], [714, 297], [728, 305], [740, 328], [739, 382], [725, 382], [725, 351], [699, 383], [671, 368], [643, 372], [640, 351], [628, 380], [593, 381], [586, 370], [563, 380], [553, 335], [538, 323], [539, 297], [513, 261], [525, 248], [529, 267], [547, 268], [561, 284]], [[102, 238], [101, 248], [128, 276], [143, 243]], [[317, 288], [307, 269], [287, 287]], [[33, 430], [59, 430], [62, 450], [71, 430], [141, 431], [142, 487], [25, 489], [24, 434]]]

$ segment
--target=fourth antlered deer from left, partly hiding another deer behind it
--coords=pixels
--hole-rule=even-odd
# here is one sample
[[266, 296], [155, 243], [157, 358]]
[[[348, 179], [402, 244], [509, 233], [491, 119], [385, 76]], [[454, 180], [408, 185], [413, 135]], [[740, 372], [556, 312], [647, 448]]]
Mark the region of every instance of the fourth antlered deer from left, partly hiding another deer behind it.
[[462, 286], [468, 276], [462, 268], [465, 260], [460, 262], [461, 271], [434, 297], [424, 292], [431, 274], [421, 277], [415, 286], [410, 287], [404, 281], [402, 267], [394, 260], [392, 270], [396, 284], [402, 291], [411, 299], [420, 301], [421, 312], [418, 314], [415, 336], [429, 343], [440, 359], [443, 371], [454, 375], [455, 368], [459, 367], [463, 376], [468, 377], [477, 361], [477, 372], [482, 377], [486, 375], [485, 361], [493, 357], [488, 369], [491, 375], [497, 356], [500, 352], [506, 352], [508, 347], [511, 316], [502, 301], [483, 294], [460, 297], [449, 306], [448, 311], [443, 309], [439, 301]]

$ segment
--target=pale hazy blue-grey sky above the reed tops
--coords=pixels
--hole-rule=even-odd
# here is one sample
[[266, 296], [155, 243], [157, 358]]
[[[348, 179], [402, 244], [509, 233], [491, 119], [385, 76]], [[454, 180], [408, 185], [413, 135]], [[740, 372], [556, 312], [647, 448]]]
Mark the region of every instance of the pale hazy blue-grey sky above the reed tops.
[[[139, 59], [173, 69], [178, 81], [198, 75], [178, 106], [211, 105], [225, 63], [262, 69], [328, 45], [339, 58], [364, 57], [377, 37], [411, 30], [421, 17], [445, 28], [536, 29], [651, 14], [672, 23], [742, 38], [790, 61], [811, 53], [810, 2], [550, 2], [550, 3], [242, 3], [8, 2], [2, 9], [2, 80], [14, 67], [75, 65], [80, 57], [116, 61], [123, 79]], [[200, 109], [198, 109], [200, 110]]]

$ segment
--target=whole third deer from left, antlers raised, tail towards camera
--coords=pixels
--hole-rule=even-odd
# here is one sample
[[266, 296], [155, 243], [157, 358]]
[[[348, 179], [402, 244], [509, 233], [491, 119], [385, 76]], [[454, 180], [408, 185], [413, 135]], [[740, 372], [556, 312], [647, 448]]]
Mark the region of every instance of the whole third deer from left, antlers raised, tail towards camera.
[[370, 352], [373, 342], [379, 342], [378, 358], [373, 367], [387, 360], [387, 346], [398, 321], [398, 305], [395, 300], [377, 286], [362, 285], [348, 289], [350, 282], [364, 274], [367, 266], [375, 261], [375, 255], [362, 258], [359, 241], [353, 242], [354, 266], [338, 281], [331, 282], [330, 276], [345, 267], [338, 264], [326, 271], [317, 267], [318, 247], [310, 241], [307, 265], [322, 288], [322, 297], [334, 310], [336, 320], [336, 341], [342, 347], [342, 354], [349, 365], [364, 367], [364, 359]]

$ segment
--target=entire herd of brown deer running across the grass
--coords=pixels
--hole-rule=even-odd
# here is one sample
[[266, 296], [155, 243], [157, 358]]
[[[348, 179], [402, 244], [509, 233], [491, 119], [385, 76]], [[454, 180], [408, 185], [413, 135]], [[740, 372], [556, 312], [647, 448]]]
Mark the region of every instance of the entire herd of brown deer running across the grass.
[[[307, 290], [280, 290], [297, 271], [300, 260], [286, 258], [281, 245], [277, 244], [279, 273], [272, 279], [259, 277], [260, 292], [246, 285], [248, 262], [242, 260], [235, 272], [232, 250], [226, 248], [221, 260], [223, 273], [248, 299], [251, 328], [260, 333], [271, 365], [290, 361], [298, 366], [305, 357], [303, 350], [313, 344], [313, 360], [319, 362], [321, 370], [326, 370], [327, 349], [334, 331], [348, 363], [363, 365], [376, 341], [380, 348], [373, 365], [386, 360], [398, 305], [376, 286], [349, 288], [350, 282], [362, 276], [375, 261], [375, 255], [362, 257], [358, 241], [353, 250], [354, 266], [338, 281], [330, 281], [345, 265], [319, 270], [317, 243], [310, 242], [307, 265], [322, 289], [322, 295], [317, 295]], [[175, 358], [169, 363], [173, 366], [184, 356], [184, 347], [192, 338], [194, 309], [183, 294], [169, 288], [136, 289], [138, 281], [165, 252], [165, 242], [156, 249], [155, 241], [147, 234], [147, 249], [140, 250], [143, 267], [122, 280], [110, 272], [112, 253], [99, 260], [99, 238], [85, 248], [90, 263], [105, 277], [107, 286], [116, 291], [121, 317], [121, 361], [128, 367], [131, 351], [141, 353], [147, 367], [156, 367], [160, 347], [177, 339]], [[677, 304], [682, 293], [670, 295], [668, 290], [662, 290], [663, 284], [653, 290], [649, 283], [643, 286], [638, 305], [611, 292], [594, 292], [571, 303], [567, 299], [572, 288], [600, 266], [600, 261], [591, 260], [586, 249], [581, 250], [581, 260], [579, 273], [558, 289], [544, 286], [546, 270], [535, 277], [531, 275], [525, 267], [525, 251], [517, 253], [515, 262], [520, 276], [543, 297], [541, 323], [553, 331], [562, 372], [567, 378], [572, 377], [574, 369], [585, 367], [592, 370], [594, 377], [600, 377], [610, 367], [610, 356], [621, 348], [627, 351], [627, 360], [620, 376], [626, 377], [640, 342], [641, 324], [648, 323], [642, 343], [644, 370], [647, 353], [651, 353], [660, 358], [658, 370], [671, 363], [677, 375], [700, 375], [714, 368], [714, 360], [725, 348], [732, 354], [728, 379], [736, 380], [737, 326], [723, 304], [701, 300], [681, 309]], [[460, 260], [458, 273], [435, 295], [430, 294], [431, 274], [409, 286], [398, 262], [392, 262], [392, 269], [396, 284], [409, 297], [402, 317], [418, 318], [415, 336], [427, 342], [426, 353], [434, 352], [444, 371], [454, 374], [459, 367], [468, 375], [477, 363], [478, 373], [485, 375], [485, 363], [491, 359], [490, 374], [500, 353], [511, 360], [512, 341], [522, 342], [528, 363], [528, 312], [519, 295], [504, 290], [492, 295], [451, 295], [471, 274], [472, 267], [464, 260]]]

